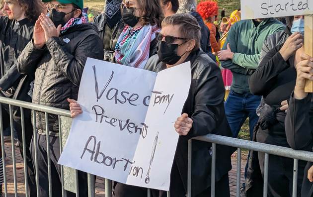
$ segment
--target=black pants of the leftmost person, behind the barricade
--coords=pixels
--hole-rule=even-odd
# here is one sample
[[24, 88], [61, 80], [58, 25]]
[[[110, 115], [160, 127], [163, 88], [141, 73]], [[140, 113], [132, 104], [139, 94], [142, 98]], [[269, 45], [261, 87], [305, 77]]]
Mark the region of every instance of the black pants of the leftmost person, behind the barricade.
[[[10, 126], [10, 116], [9, 116], [9, 106], [7, 104], [2, 104], [2, 122], [3, 129]], [[25, 128], [25, 146], [26, 146], [26, 164], [27, 164], [27, 188], [28, 188], [28, 197], [36, 197], [36, 179], [35, 179], [35, 171], [34, 166], [31, 160], [30, 154], [30, 142], [33, 137], [33, 126], [31, 124], [30, 114], [24, 113], [24, 128]], [[23, 138], [22, 138], [22, 127], [21, 127], [21, 118], [17, 116], [13, 116], [13, 125], [17, 132], [18, 143], [19, 143], [19, 151], [21, 153], [22, 158], [24, 159], [23, 154]]]

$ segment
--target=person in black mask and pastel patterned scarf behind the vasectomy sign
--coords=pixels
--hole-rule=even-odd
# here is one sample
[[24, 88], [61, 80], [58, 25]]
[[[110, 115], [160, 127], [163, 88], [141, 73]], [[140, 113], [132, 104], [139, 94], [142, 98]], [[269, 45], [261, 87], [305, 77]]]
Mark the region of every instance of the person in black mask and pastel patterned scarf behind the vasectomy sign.
[[164, 18], [159, 0], [124, 0], [121, 14], [126, 27], [115, 46], [115, 62], [143, 69], [157, 52], [156, 33]]

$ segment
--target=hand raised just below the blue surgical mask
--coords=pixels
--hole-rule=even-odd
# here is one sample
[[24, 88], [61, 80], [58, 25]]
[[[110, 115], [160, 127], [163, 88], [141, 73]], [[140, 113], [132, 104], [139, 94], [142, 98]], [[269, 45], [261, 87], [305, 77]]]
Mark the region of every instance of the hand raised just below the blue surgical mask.
[[287, 61], [291, 56], [293, 56], [296, 51], [303, 46], [302, 43], [303, 35], [299, 32], [293, 33], [279, 50], [284, 60]]

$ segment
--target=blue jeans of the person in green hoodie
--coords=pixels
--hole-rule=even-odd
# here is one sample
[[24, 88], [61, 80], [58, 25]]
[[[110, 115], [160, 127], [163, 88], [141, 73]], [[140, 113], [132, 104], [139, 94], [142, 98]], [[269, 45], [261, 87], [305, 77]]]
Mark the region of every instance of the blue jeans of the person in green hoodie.
[[[257, 123], [259, 116], [256, 115], [255, 109], [261, 102], [261, 96], [252, 94], [238, 94], [233, 90], [224, 102], [227, 120], [230, 124], [233, 136], [236, 138], [244, 121], [249, 117], [250, 140], [253, 138], [253, 129]], [[249, 151], [250, 155], [250, 151]], [[244, 178], [247, 177], [248, 160], [245, 166]], [[245, 186], [245, 183], [242, 184]]]

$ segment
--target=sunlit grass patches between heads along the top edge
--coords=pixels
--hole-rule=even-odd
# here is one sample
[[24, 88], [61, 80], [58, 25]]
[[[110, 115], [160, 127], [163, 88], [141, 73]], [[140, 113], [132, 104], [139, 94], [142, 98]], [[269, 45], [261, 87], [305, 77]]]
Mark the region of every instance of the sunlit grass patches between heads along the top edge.
[[[198, 0], [200, 2], [200, 0]], [[84, 0], [84, 7], [89, 7], [88, 13], [96, 15], [103, 10], [105, 0]], [[231, 13], [240, 7], [240, 0], [218, 0], [219, 17], [221, 17], [221, 11], [223, 7], [226, 8], [225, 15], [229, 17]]]

